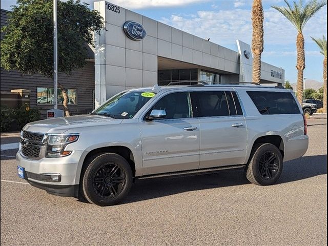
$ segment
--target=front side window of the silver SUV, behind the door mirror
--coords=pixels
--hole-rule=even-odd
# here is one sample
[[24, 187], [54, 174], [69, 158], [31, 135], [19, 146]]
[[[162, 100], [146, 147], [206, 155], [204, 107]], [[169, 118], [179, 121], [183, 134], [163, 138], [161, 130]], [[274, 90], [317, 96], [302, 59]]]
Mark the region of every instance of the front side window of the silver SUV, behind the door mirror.
[[147, 112], [146, 116], [150, 115], [154, 109], [165, 110], [166, 117], [164, 119], [191, 118], [192, 110], [189, 92], [177, 92], [163, 96]]

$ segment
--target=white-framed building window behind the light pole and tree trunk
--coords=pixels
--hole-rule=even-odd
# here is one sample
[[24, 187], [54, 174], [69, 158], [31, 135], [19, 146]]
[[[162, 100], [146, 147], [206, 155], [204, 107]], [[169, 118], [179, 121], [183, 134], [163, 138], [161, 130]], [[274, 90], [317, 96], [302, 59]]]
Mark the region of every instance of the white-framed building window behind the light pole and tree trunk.
[[[53, 104], [53, 88], [37, 87], [37, 104]], [[76, 104], [76, 89], [66, 89], [68, 104]], [[64, 97], [61, 90], [57, 90], [58, 104], [63, 104]]]

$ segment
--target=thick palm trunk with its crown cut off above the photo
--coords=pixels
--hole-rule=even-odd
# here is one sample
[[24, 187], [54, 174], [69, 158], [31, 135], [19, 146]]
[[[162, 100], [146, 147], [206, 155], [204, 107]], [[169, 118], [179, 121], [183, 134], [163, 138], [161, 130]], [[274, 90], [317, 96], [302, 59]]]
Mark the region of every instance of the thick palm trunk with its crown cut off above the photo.
[[254, 0], [252, 6], [252, 52], [253, 52], [253, 74], [252, 81], [260, 83], [261, 79], [261, 54], [263, 52], [263, 7], [262, 0]]

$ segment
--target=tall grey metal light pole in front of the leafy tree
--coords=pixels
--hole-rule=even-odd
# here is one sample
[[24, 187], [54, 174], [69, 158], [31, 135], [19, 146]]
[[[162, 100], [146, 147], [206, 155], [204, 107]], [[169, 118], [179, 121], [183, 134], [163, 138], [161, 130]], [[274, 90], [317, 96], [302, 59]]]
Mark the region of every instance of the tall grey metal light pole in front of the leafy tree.
[[58, 108], [57, 0], [53, 0], [53, 108]]

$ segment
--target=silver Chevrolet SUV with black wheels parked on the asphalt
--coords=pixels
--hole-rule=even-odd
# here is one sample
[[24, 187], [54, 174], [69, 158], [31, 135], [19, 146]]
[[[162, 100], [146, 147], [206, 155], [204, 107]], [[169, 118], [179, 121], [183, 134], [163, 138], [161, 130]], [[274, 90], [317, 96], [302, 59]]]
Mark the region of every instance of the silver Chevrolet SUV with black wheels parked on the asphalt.
[[272, 185], [308, 141], [289, 90], [154, 86], [121, 92], [89, 115], [27, 124], [16, 160], [32, 186], [107, 206], [150, 177], [241, 168], [252, 183]]

